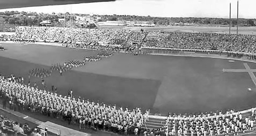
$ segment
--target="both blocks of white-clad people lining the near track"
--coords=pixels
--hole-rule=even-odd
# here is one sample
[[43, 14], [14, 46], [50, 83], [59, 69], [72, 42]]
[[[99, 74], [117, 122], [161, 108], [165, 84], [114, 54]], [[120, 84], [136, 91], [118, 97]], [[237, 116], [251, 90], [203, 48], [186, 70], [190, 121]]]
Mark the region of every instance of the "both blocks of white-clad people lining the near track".
[[16, 77], [1, 76], [0, 87], [3, 106], [8, 103], [10, 109], [40, 112], [42, 115], [61, 118], [69, 124], [74, 123], [80, 129], [92, 127], [98, 130], [111, 131], [118, 134], [164, 134], [164, 135], [238, 135], [238, 133], [254, 129], [256, 110], [249, 114], [229, 110], [201, 114], [169, 113], [165, 125], [161, 129], [146, 129], [144, 124], [149, 119], [149, 110], [144, 113], [140, 108], [127, 108], [105, 103], [94, 103], [72, 96], [58, 95], [48, 90], [27, 86], [22, 82], [14, 82]]

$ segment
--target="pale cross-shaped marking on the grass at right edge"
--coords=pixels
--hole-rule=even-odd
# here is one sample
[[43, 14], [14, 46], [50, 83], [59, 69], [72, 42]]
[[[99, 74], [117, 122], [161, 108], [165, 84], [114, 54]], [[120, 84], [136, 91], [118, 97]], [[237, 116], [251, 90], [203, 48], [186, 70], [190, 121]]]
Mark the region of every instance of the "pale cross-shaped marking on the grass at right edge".
[[256, 77], [253, 72], [256, 72], [256, 69], [250, 69], [247, 63], [244, 63], [246, 69], [223, 69], [223, 72], [248, 72], [250, 75], [255, 87], [256, 87]]

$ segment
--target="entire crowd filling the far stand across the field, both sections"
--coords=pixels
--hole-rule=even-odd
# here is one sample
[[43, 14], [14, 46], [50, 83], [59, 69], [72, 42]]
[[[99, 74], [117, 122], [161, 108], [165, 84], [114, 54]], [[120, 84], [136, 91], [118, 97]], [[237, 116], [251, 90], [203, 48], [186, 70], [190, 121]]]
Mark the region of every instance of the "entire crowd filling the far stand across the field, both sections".
[[[74, 44], [83, 47], [97, 44], [118, 44], [123, 48], [165, 47], [179, 49], [224, 50], [255, 53], [256, 35], [183, 33], [183, 32], [142, 32], [110, 29], [79, 29], [57, 27], [17, 27], [16, 39], [52, 40], [64, 42], [82, 42]], [[7, 35], [6, 35], [7, 36]], [[1, 38], [1, 37], [0, 37]], [[13, 38], [7, 36], [6, 38]], [[133, 48], [133, 47], [132, 47]]]

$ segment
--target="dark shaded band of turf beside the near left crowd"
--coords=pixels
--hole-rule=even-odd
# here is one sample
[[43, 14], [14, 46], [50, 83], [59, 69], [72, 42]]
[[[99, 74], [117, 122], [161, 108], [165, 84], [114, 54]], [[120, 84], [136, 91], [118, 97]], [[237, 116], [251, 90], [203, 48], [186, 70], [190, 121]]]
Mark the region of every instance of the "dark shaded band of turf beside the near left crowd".
[[[27, 77], [28, 71], [32, 68], [50, 68], [49, 66], [19, 61], [10, 58], [0, 57], [0, 72], [4, 75], [13, 73], [17, 76]], [[37, 82], [39, 88], [41, 79], [32, 77], [31, 85]], [[60, 75], [57, 71], [52, 76], [45, 78], [49, 90], [51, 86], [57, 87], [59, 94], [67, 95], [68, 90], [73, 90], [75, 97], [89, 99], [94, 102], [116, 104], [117, 106], [147, 109], [152, 107], [160, 81], [149, 79], [132, 79], [114, 76], [98, 75], [86, 72], [67, 71]], [[28, 79], [25, 80], [25, 83]]]

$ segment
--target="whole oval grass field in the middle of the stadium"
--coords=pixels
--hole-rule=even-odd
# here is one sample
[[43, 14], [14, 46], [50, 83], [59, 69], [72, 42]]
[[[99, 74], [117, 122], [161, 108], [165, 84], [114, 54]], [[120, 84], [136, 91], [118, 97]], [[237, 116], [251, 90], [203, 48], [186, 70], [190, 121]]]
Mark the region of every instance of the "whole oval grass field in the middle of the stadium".
[[[0, 73], [23, 77], [28, 77], [32, 68], [50, 68], [53, 63], [97, 53], [44, 45], [2, 46], [7, 50], [0, 52]], [[128, 108], [150, 108], [152, 113], [242, 110], [255, 106], [256, 87], [248, 73], [223, 73], [222, 69], [245, 69], [243, 63], [215, 58], [116, 53], [65, 72], [63, 76], [53, 72], [45, 81], [48, 89], [54, 85], [63, 95], [72, 89], [74, 96]], [[256, 68], [256, 64], [246, 63], [251, 69]], [[41, 83], [40, 78], [31, 80]]]

